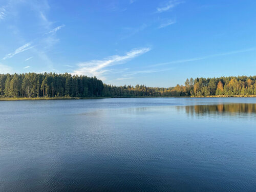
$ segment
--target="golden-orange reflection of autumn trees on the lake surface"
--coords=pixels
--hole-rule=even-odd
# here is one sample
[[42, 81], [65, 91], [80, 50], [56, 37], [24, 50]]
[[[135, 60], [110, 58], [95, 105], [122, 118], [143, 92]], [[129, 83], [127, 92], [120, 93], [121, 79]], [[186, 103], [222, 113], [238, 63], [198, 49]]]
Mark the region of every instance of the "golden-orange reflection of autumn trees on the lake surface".
[[216, 105], [185, 106], [187, 114], [211, 114], [211, 113], [256, 113], [256, 103], [230, 103]]

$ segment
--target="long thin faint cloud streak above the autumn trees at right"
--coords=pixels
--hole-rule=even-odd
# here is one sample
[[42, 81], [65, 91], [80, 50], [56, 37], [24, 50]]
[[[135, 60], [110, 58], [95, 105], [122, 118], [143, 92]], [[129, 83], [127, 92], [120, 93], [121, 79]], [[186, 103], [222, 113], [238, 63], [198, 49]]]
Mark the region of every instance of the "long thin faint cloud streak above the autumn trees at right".
[[212, 54], [212, 55], [207, 55], [207, 56], [202, 56], [202, 57], [194, 57], [194, 58], [188, 58], [188, 59], [174, 60], [174, 61], [169, 61], [169, 62], [158, 63], [158, 64], [155, 64], [155, 65], [152, 65], [152, 66], [163, 66], [163, 65], [170, 65], [170, 64], [175, 64], [175, 63], [197, 61], [197, 60], [203, 60], [203, 59], [208, 59], [208, 58], [212, 58], [212, 57], [233, 55], [233, 54], [249, 52], [249, 51], [256, 51], [256, 48], [249, 48], [249, 49], [243, 49], [243, 50], [237, 50], [237, 51], [230, 51], [230, 52]]

